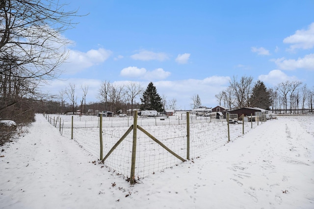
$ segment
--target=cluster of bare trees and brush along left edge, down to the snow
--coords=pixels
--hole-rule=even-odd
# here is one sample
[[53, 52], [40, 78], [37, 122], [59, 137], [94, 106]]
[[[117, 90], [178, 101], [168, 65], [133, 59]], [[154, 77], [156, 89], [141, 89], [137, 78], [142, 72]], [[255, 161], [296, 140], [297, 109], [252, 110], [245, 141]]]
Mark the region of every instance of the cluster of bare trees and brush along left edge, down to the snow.
[[15, 118], [45, 99], [38, 87], [61, 73], [77, 11], [54, 0], [0, 0], [0, 115]]

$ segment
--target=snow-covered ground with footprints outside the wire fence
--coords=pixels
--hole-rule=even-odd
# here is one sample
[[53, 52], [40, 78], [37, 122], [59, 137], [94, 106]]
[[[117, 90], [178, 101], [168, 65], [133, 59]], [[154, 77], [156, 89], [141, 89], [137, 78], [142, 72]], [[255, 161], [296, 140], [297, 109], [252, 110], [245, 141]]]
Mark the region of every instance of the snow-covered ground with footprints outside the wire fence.
[[314, 116], [278, 116], [130, 186], [42, 115], [0, 147], [5, 209], [313, 209]]

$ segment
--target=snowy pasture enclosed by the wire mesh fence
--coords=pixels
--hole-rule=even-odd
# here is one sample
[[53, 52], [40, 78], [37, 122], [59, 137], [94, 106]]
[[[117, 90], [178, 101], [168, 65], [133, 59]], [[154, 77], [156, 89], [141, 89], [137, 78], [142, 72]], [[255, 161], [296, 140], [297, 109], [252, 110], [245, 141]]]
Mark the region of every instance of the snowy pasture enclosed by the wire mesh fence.
[[[188, 115], [189, 114], [187, 113], [187, 116]], [[126, 178], [131, 176], [132, 147], [135, 145], [135, 170], [132, 174], [134, 175], [132, 177], [134, 178], [134, 181], [136, 178], [144, 178], [157, 171], [175, 166], [182, 162], [142, 131], [137, 131], [135, 144], [133, 143], [133, 137], [128, 135], [115, 147], [115, 149], [111, 150], [117, 141], [122, 138], [128, 127], [104, 126], [104, 124], [108, 121], [113, 121], [107, 118], [102, 120], [102, 124], [98, 121], [98, 127], [86, 127], [86, 125], [85, 127], [80, 127], [79, 122], [88, 124], [86, 121], [93, 121], [91, 118], [89, 118], [90, 120], [78, 121], [78, 119], [81, 120], [82, 118], [74, 116], [71, 124], [68, 123], [69, 119], [65, 120], [65, 116], [46, 115], [46, 118], [54, 127], [59, 129], [63, 136], [75, 139], [78, 141], [80, 146], [86, 149], [89, 153], [96, 157], [100, 157], [99, 160], [103, 160], [107, 167], [116, 171], [118, 174], [124, 175]], [[167, 148], [173, 151], [176, 155], [189, 160], [205, 155], [226, 144], [228, 139], [233, 141], [259, 125], [258, 121], [229, 125], [226, 119], [197, 119], [198, 122], [189, 123], [190, 118], [191, 117], [188, 117], [185, 121], [180, 120], [180, 125], [179, 123], [176, 123], [177, 120], [175, 120], [175, 122], [168, 121], [168, 124], [166, 125], [160, 125], [159, 123], [157, 124], [157, 118], [152, 118], [150, 119], [150, 122], [145, 123], [146, 126], [144, 126], [143, 129], [145, 129], [149, 135], [153, 136], [153, 138], [157, 139], [160, 143], [164, 144]], [[154, 122], [154, 119], [155, 125], [151, 125], [151, 121]], [[123, 118], [120, 121], [125, 123], [126, 119]], [[138, 118], [138, 126], [140, 126], [140, 121], [141, 118]], [[128, 124], [131, 126], [133, 123], [134, 121], [130, 121], [129, 118]], [[113, 124], [113, 122], [111, 124]], [[99, 128], [100, 125], [103, 125], [101, 130]], [[230, 127], [229, 129], [228, 125]], [[73, 128], [71, 128], [72, 126]], [[230, 133], [229, 138], [228, 130]], [[73, 136], [71, 133], [73, 133]], [[103, 158], [101, 153], [101, 137], [103, 138], [102, 145], [106, 159]], [[189, 138], [189, 140], [187, 140], [187, 138]], [[109, 152], [111, 153], [109, 154]], [[130, 177], [131, 180], [132, 178]]]

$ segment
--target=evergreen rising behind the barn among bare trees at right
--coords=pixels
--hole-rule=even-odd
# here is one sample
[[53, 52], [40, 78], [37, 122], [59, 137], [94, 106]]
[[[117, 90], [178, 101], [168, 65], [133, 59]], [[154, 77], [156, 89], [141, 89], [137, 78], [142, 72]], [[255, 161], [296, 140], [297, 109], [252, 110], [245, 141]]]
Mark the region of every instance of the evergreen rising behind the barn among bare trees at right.
[[262, 81], [257, 81], [250, 97], [250, 106], [269, 110], [271, 105], [270, 93]]

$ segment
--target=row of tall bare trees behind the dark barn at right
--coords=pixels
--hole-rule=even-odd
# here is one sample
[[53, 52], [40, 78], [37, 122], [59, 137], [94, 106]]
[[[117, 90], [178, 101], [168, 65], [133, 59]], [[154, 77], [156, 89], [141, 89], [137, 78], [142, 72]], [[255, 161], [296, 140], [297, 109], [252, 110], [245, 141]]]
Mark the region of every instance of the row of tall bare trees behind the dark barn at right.
[[[239, 80], [233, 76], [228, 88], [215, 97], [219, 105], [223, 104], [229, 109], [254, 106], [271, 108], [275, 113], [304, 113], [306, 110], [313, 112], [314, 88], [309, 89], [301, 81], [285, 81], [273, 88], [260, 88], [264, 91], [256, 92], [259, 85], [263, 87], [261, 81], [254, 84], [251, 76], [242, 76]], [[256, 103], [257, 97], [264, 102]]]

